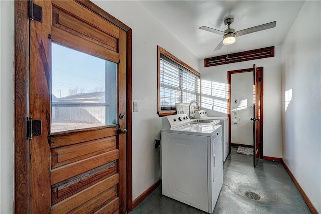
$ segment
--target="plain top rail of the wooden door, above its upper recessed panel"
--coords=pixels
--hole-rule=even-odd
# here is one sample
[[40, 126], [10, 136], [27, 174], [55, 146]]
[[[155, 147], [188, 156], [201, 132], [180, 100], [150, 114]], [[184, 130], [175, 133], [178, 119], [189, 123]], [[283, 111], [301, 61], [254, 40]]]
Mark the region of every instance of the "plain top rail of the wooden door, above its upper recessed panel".
[[106, 34], [119, 38], [119, 28], [110, 22], [98, 17], [92, 11], [89, 11], [82, 5], [74, 1], [52, 1], [53, 5], [59, 7], [62, 10], [68, 11], [75, 17], [79, 17], [84, 22], [95, 25], [97, 28], [104, 31]]

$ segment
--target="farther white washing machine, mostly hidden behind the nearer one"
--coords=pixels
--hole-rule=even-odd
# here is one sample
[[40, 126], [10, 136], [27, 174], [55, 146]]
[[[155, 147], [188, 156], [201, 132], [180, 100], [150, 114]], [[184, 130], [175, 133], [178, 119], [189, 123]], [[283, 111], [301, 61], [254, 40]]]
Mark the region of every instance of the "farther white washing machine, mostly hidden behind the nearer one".
[[225, 162], [229, 155], [229, 118], [228, 117], [212, 117], [208, 116], [208, 113], [204, 110], [200, 110], [194, 113], [195, 118], [208, 119], [208, 120], [220, 120], [222, 125], [222, 145], [223, 145], [223, 162]]

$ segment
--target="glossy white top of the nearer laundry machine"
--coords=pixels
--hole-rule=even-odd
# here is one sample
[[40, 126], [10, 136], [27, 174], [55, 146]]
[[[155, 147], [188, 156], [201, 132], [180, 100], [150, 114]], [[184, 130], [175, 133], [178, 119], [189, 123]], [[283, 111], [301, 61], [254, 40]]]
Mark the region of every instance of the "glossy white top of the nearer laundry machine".
[[166, 130], [166, 131], [173, 132], [173, 133], [211, 136], [221, 128], [222, 128], [221, 125], [204, 125], [204, 124], [189, 123], [187, 125], [183, 125], [174, 129]]

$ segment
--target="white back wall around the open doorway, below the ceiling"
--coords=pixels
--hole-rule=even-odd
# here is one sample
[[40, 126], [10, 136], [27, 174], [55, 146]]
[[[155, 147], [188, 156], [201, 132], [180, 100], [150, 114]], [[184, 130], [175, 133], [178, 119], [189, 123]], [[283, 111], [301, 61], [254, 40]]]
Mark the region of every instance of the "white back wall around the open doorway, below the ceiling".
[[[262, 47], [257, 47], [262, 48]], [[214, 55], [214, 53], [213, 53]], [[264, 156], [282, 157], [282, 90], [281, 90], [281, 47], [275, 46], [275, 56], [226, 65], [204, 67], [200, 60], [201, 81], [227, 84], [227, 71], [264, 67]], [[203, 85], [202, 85], [203, 87]], [[227, 101], [227, 99], [222, 99]], [[202, 101], [203, 102], [203, 101]], [[226, 104], [225, 104], [226, 105]], [[227, 106], [225, 106], [227, 108]], [[226, 113], [210, 111], [211, 115], [227, 116]]]

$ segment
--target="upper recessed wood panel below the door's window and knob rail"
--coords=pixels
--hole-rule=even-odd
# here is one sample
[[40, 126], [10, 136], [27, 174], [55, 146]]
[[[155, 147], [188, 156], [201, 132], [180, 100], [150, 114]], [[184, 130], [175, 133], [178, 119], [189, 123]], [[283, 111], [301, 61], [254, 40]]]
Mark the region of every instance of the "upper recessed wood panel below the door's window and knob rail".
[[116, 149], [116, 137], [91, 140], [51, 150], [52, 168]]

